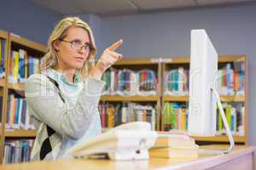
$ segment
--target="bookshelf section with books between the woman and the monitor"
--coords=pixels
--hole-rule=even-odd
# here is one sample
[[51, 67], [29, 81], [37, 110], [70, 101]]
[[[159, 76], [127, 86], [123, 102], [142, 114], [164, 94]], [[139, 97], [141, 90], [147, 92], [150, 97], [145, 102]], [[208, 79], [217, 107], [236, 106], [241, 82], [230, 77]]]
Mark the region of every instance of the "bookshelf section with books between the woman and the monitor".
[[[118, 71], [118, 73], [116, 73], [116, 71]], [[122, 71], [131, 71], [131, 74], [128, 74], [130, 76], [130, 78], [125, 77], [124, 80], [122, 79]], [[140, 72], [143, 72], [142, 74]], [[148, 72], [147, 72], [148, 71]], [[154, 87], [154, 93], [153, 94], [143, 94], [140, 93], [138, 91], [140, 91], [140, 88], [136, 89], [136, 92], [131, 93], [131, 94], [122, 94], [122, 92], [119, 92], [119, 87], [122, 87], [120, 84], [122, 84], [121, 82], [127, 82], [127, 80], [130, 81], [134, 81], [131, 77], [132, 74], [136, 74], [137, 77], [136, 81], [137, 87], [140, 87], [140, 84], [143, 84], [143, 82], [147, 82], [147, 80], [153, 80], [154, 78], [151, 77], [151, 79], [149, 78], [149, 73], [150, 71], [154, 72], [154, 76], [155, 76], [155, 87]], [[109, 75], [111, 79], [111, 81], [109, 82], [109, 87], [108, 89], [108, 93], [105, 94], [103, 92], [103, 95], [100, 99], [100, 106], [99, 106], [99, 111], [101, 114], [101, 118], [102, 118], [102, 127], [105, 130], [109, 129], [110, 127], [113, 126], [117, 126], [120, 123], [124, 123], [124, 122], [130, 122], [130, 121], [139, 121], [139, 120], [146, 120], [147, 122], [150, 122], [150, 120], [152, 122], [155, 122], [155, 126], [154, 129], [159, 130], [160, 129], [160, 74], [161, 74], [161, 64], [160, 64], [160, 60], [159, 59], [150, 59], [150, 58], [136, 58], [136, 59], [132, 59], [132, 58], [124, 58], [124, 59], [120, 59], [119, 61], [117, 61], [110, 69], [109, 69]], [[128, 72], [130, 73], [130, 72]], [[147, 74], [148, 73], [148, 74]], [[114, 78], [112, 77], [113, 74], [115, 75]], [[112, 76], [111, 76], [112, 75]], [[125, 74], [124, 74], [125, 75]], [[143, 75], [143, 77], [147, 77], [146, 79], [143, 79], [143, 77], [140, 77], [140, 75]], [[127, 78], [127, 79], [126, 79]], [[103, 81], [104, 80], [104, 76], [102, 78]], [[113, 81], [114, 80], [114, 81]], [[113, 81], [113, 82], [112, 82]], [[106, 81], [108, 84], [108, 81]], [[129, 81], [128, 81], [129, 82]], [[133, 82], [131, 82], [133, 83]], [[112, 86], [110, 86], [110, 84], [112, 84]], [[114, 85], [113, 85], [114, 84]], [[118, 84], [118, 85], [117, 85]], [[120, 86], [119, 86], [120, 85]], [[130, 87], [132, 89], [132, 85]], [[129, 88], [129, 89], [130, 89]], [[121, 90], [122, 91], [122, 90]], [[124, 90], [125, 91], [125, 90]], [[119, 92], [119, 93], [117, 93]], [[117, 93], [117, 94], [116, 94]], [[134, 108], [131, 108], [131, 105], [125, 105], [126, 103], [131, 103], [135, 104]], [[110, 105], [110, 106], [108, 106]], [[118, 105], [118, 106], [114, 106], [114, 105]], [[121, 111], [119, 111], [117, 108], [119, 107], [119, 105], [121, 105], [120, 107], [122, 108]], [[147, 107], [148, 105], [151, 105], [155, 111], [155, 116], [154, 115], [154, 111], [152, 111], [151, 113], [150, 110], [149, 112], [147, 111], [143, 111], [143, 118], [139, 118], [140, 114], [137, 114], [138, 109], [140, 106]], [[112, 107], [114, 106], [114, 112], [110, 113], [108, 112], [109, 110], [104, 108], [108, 108], [108, 107]], [[128, 112], [134, 112], [133, 110], [135, 110], [136, 112], [136, 116], [129, 116], [128, 118], [125, 118], [125, 112], [124, 112], [124, 108], [129, 108], [131, 110], [129, 110]], [[148, 106], [150, 107], [150, 106]], [[126, 111], [126, 110], [125, 110]], [[105, 116], [105, 112], [107, 112], [109, 115]], [[147, 112], [147, 113], [146, 113]], [[113, 116], [110, 116], [112, 115]], [[151, 115], [150, 115], [151, 114]], [[116, 118], [116, 115], [121, 115], [119, 118]], [[131, 114], [130, 114], [131, 115]], [[147, 115], [149, 115], [150, 118], [145, 118]], [[107, 117], [107, 118], [106, 118]], [[113, 118], [111, 118], [113, 117]], [[153, 120], [154, 119], [154, 120]]]

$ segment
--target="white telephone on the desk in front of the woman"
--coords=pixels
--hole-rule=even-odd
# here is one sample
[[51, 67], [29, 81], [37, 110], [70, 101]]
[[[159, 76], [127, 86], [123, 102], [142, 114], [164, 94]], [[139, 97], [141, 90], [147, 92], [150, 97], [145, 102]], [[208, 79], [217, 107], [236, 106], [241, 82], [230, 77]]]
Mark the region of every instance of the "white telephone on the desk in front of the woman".
[[66, 154], [73, 157], [102, 157], [112, 160], [148, 159], [157, 133], [148, 122], [129, 122], [114, 127], [93, 139], [74, 145]]

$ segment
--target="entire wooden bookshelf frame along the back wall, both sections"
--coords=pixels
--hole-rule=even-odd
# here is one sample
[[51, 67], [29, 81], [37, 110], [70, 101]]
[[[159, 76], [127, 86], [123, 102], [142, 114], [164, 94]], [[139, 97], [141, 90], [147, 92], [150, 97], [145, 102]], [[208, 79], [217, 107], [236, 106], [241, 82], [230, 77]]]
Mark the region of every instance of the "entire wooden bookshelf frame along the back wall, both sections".
[[[247, 58], [245, 55], [221, 55], [218, 58], [218, 69], [223, 68], [228, 63], [234, 65], [234, 63], [244, 63], [245, 64], [245, 89], [244, 94], [242, 95], [231, 95], [231, 94], [221, 94], [220, 99], [222, 102], [226, 103], [241, 103], [244, 105], [245, 111], [243, 115], [244, 127], [243, 135], [234, 135], [236, 144], [247, 144]], [[158, 65], [158, 94], [157, 95], [102, 95], [101, 101], [104, 102], [144, 102], [149, 103], [152, 101], [157, 101], [160, 108], [157, 112], [157, 121], [158, 128], [157, 130], [164, 130], [163, 128], [163, 112], [165, 110], [164, 105], [166, 102], [178, 102], [183, 103], [188, 106], [189, 94], [165, 94], [165, 72], [170, 70], [178, 69], [183, 67], [185, 70], [189, 71], [189, 57], [173, 57], [168, 59], [131, 59], [125, 58], [117, 62], [113, 67], [122, 68], [136, 68], [138, 65], [147, 65], [148, 67], [154, 67], [153, 65]], [[188, 72], [187, 72], [188, 73]], [[189, 86], [189, 85], [188, 85]], [[189, 87], [187, 87], [189, 88]], [[189, 90], [189, 89], [188, 89]], [[105, 127], [104, 131], [108, 130], [109, 127]], [[194, 137], [196, 141], [199, 142], [218, 142], [218, 143], [227, 143], [228, 139], [225, 135], [218, 135], [213, 138], [207, 137]]]

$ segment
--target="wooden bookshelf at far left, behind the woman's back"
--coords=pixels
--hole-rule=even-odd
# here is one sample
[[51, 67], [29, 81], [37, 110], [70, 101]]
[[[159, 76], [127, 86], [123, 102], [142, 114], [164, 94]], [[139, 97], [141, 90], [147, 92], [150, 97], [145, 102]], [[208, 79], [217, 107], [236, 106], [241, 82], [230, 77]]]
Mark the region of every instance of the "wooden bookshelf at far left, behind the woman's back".
[[[15, 73], [14, 70], [14, 65], [16, 66], [13, 51], [17, 51], [18, 53], [18, 60], [20, 62], [20, 55], [19, 53], [23, 52], [24, 56], [26, 59], [32, 59], [32, 58], [40, 58], [44, 55], [46, 52], [46, 47], [44, 45], [38, 43], [38, 42], [33, 42], [25, 37], [20, 37], [17, 36], [11, 32], [7, 31], [0, 31], [0, 38], [3, 38], [5, 40], [5, 54], [4, 54], [4, 78], [0, 79], [0, 94], [3, 96], [3, 111], [1, 114], [1, 162], [3, 162], [3, 156], [4, 156], [4, 150], [5, 150], [5, 144], [12, 142], [12, 141], [21, 141], [20, 144], [22, 145], [22, 142], [26, 142], [26, 140], [29, 139], [34, 139], [36, 136], [37, 131], [36, 130], [26, 130], [22, 129], [20, 127], [16, 128], [9, 128], [9, 123], [7, 123], [9, 114], [11, 113], [12, 106], [10, 105], [10, 95], [14, 95], [14, 99], [20, 99], [22, 100], [19, 101], [23, 105], [25, 102], [25, 82], [21, 82], [21, 78], [17, 79], [16, 82], [13, 82], [14, 75]], [[17, 57], [17, 56], [16, 56]], [[21, 69], [23, 68], [22, 71], [24, 71], [24, 79], [26, 79], [29, 74], [29, 71], [25, 71], [26, 69], [28, 70], [29, 66], [31, 65], [29, 62], [32, 60], [23, 60], [24, 63], [19, 63], [17, 66], [19, 74]], [[27, 68], [26, 68], [27, 67]], [[35, 69], [36, 66], [33, 66]], [[26, 72], [26, 73], [25, 73]], [[32, 73], [32, 72], [30, 72]], [[12, 75], [13, 74], [13, 75]], [[25, 77], [26, 76], [26, 77]], [[15, 77], [17, 78], [17, 77]], [[24, 104], [25, 105], [25, 104]], [[16, 105], [15, 105], [16, 107]], [[10, 111], [11, 110], [11, 111]], [[25, 111], [20, 111], [20, 112], [26, 112]], [[20, 113], [19, 112], [19, 113]], [[16, 114], [16, 112], [15, 112]], [[12, 115], [13, 116], [13, 115]], [[29, 144], [32, 144], [32, 141], [28, 142]], [[16, 143], [17, 144], [17, 143]], [[19, 145], [20, 146], [20, 145]]]

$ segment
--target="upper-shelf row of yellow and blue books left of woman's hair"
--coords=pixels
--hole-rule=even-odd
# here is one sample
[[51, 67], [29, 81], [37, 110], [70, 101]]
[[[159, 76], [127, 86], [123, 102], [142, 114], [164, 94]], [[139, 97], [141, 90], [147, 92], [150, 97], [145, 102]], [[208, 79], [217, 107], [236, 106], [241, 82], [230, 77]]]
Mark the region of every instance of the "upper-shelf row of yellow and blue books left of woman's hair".
[[9, 62], [9, 82], [26, 82], [26, 78], [38, 72], [40, 58], [28, 55], [26, 50], [12, 50]]

